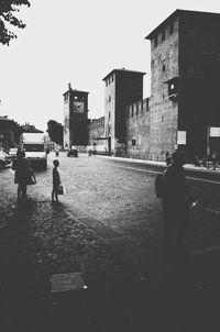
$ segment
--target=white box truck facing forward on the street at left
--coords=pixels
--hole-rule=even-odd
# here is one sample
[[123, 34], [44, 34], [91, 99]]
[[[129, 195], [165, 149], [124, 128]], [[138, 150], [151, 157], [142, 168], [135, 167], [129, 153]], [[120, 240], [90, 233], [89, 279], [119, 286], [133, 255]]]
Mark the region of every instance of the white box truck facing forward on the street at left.
[[44, 133], [23, 133], [22, 148], [33, 167], [40, 165], [43, 169], [47, 168], [47, 148]]

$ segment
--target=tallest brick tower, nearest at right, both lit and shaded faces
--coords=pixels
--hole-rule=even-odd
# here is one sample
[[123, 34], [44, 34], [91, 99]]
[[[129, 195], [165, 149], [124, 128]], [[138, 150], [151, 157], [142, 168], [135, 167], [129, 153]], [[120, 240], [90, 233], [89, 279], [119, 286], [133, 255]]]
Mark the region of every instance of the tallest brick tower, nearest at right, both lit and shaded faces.
[[[206, 155], [208, 126], [220, 126], [220, 14], [176, 10], [147, 36], [151, 41], [152, 153], [173, 151], [186, 133], [188, 159]], [[212, 150], [220, 142], [212, 140]]]

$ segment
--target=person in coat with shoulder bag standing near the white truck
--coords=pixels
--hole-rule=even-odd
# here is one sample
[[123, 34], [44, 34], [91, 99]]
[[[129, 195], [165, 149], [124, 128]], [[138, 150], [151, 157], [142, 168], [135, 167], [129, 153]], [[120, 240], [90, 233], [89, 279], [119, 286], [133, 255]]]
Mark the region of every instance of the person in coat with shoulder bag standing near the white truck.
[[14, 184], [18, 184], [18, 200], [26, 198], [26, 186], [36, 182], [31, 164], [25, 158], [25, 152], [19, 150], [12, 169], [15, 170]]

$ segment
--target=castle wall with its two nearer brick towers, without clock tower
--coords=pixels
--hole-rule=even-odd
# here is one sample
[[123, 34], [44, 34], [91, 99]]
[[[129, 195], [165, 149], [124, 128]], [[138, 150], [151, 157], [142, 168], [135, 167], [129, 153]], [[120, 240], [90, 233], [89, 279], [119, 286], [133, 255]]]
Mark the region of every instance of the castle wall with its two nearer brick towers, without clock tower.
[[[180, 147], [188, 161], [220, 151], [220, 14], [176, 10], [146, 37], [151, 96], [144, 73], [113, 69], [105, 78], [105, 121], [89, 125], [116, 155], [164, 161]], [[97, 137], [98, 139], [98, 137]]]

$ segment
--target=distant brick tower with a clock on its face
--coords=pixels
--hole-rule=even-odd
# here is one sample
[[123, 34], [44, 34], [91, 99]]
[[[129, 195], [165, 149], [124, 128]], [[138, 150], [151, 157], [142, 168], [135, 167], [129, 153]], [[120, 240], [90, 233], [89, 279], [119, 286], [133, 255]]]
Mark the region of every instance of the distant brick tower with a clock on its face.
[[72, 89], [64, 96], [64, 147], [88, 144], [88, 93]]

